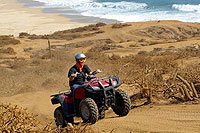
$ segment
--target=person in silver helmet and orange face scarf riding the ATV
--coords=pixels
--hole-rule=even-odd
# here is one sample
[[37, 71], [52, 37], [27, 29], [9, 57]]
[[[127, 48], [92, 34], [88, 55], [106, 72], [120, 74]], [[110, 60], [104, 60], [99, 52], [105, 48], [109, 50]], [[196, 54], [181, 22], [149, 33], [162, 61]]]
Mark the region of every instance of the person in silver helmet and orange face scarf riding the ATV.
[[[86, 56], [83, 53], [77, 54], [75, 56], [76, 64], [72, 66], [68, 73], [69, 85], [71, 91], [81, 87], [85, 82], [85, 75], [91, 75], [92, 72], [90, 68], [85, 64]], [[97, 73], [101, 72], [99, 69], [96, 70]]]

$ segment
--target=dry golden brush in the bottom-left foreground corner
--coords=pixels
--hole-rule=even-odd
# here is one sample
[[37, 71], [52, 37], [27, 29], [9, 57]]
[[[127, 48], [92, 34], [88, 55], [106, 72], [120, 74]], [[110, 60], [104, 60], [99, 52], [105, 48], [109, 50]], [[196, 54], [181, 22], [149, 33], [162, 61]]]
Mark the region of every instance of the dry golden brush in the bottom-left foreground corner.
[[66, 128], [55, 128], [52, 123], [41, 125], [37, 116], [28, 113], [17, 105], [0, 104], [0, 131], [10, 132], [51, 132], [51, 133], [92, 133], [89, 125], [72, 126], [67, 124]]

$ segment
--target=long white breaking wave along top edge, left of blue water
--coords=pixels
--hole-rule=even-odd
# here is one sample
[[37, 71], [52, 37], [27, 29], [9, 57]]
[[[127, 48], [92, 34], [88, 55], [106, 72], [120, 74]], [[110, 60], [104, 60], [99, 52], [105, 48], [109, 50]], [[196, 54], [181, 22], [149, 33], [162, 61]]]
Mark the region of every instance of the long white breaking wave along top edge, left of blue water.
[[143, 9], [147, 7], [145, 3], [135, 2], [95, 2], [93, 0], [34, 0], [45, 3], [47, 6], [53, 7], [70, 7], [75, 10], [123, 10], [123, 12]]

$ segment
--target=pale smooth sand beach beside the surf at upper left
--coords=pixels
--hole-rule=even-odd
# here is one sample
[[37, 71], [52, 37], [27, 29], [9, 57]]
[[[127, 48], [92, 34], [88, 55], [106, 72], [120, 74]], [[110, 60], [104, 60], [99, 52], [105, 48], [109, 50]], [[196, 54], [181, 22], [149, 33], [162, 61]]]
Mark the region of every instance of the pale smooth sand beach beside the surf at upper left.
[[0, 1], [0, 35], [18, 36], [29, 34], [50, 34], [55, 31], [72, 29], [86, 24], [71, 22], [59, 14], [44, 13], [42, 9], [24, 8], [16, 0]]

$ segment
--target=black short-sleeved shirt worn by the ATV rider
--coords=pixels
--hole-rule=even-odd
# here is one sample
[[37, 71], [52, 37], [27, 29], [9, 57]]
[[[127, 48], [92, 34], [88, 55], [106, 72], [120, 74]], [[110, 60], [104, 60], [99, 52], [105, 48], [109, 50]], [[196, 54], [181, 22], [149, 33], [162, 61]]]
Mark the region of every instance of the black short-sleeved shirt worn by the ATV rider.
[[70, 68], [69, 72], [68, 72], [68, 78], [70, 78], [70, 76], [73, 73], [78, 72], [77, 76], [74, 78], [74, 80], [69, 81], [69, 85], [72, 86], [74, 84], [83, 84], [85, 82], [85, 74], [89, 74], [91, 72], [90, 68], [87, 65], [83, 66], [82, 72], [79, 71], [78, 67], [76, 65], [74, 65], [73, 67]]

